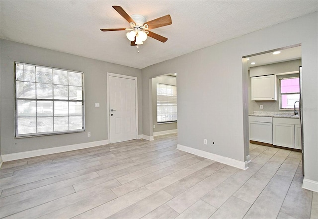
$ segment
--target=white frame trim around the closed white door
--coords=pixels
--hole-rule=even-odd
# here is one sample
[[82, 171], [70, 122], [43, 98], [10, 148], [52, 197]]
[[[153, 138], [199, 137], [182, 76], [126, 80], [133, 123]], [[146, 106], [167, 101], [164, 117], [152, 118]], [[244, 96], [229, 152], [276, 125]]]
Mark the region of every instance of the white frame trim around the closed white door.
[[109, 107], [109, 76], [118, 77], [118, 78], [126, 78], [135, 80], [135, 114], [136, 114], [136, 139], [138, 139], [138, 87], [137, 87], [137, 77], [128, 76], [128, 75], [120, 75], [115, 73], [107, 72], [107, 138], [109, 143], [111, 143], [110, 139], [110, 107]]

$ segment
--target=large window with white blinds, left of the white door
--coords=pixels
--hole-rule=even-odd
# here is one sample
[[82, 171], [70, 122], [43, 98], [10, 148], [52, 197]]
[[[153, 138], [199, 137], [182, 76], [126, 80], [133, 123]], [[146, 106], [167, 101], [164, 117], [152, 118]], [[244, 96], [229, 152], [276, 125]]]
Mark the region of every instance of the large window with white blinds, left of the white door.
[[16, 62], [15, 137], [83, 130], [83, 73]]

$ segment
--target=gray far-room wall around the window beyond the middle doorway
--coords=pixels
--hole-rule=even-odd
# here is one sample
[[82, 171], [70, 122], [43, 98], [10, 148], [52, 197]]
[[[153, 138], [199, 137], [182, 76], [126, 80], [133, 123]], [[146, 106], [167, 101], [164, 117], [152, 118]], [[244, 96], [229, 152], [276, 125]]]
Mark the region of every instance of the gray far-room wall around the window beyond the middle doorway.
[[166, 85], [177, 85], [177, 78], [170, 75], [159, 76], [152, 79], [152, 105], [153, 105], [153, 124], [156, 128], [153, 128], [153, 132], [167, 131], [177, 129], [177, 123], [157, 123], [157, 83]]

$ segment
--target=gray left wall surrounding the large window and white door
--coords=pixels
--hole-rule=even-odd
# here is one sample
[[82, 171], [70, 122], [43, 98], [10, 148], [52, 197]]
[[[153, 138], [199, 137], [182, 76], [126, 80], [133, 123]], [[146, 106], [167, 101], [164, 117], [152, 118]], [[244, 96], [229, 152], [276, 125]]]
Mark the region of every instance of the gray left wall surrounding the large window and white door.
[[[1, 154], [44, 149], [108, 139], [107, 136], [107, 72], [135, 76], [138, 81], [139, 133], [142, 134], [141, 70], [76, 55], [29, 46], [7, 40], [0, 41], [1, 52]], [[84, 72], [85, 132], [30, 138], [14, 138], [14, 61]], [[100, 107], [95, 108], [94, 103]], [[91, 132], [91, 137], [87, 137]]]

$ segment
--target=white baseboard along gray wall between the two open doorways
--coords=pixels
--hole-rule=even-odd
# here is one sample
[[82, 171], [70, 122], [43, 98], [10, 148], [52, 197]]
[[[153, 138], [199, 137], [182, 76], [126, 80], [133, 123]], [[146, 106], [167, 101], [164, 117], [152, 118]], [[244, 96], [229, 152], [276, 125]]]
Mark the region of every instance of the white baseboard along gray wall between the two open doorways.
[[188, 152], [190, 154], [200, 156], [200, 157], [204, 157], [204, 158], [207, 158], [210, 160], [214, 160], [214, 161], [217, 161], [220, 163], [224, 163], [224, 164], [227, 164], [227, 165], [230, 165], [233, 167], [237, 167], [237, 168], [242, 169], [242, 170], [246, 170], [248, 168], [247, 161], [244, 162], [244, 161], [235, 160], [235, 159], [232, 159], [229, 157], [223, 157], [223, 156], [220, 156], [217, 154], [198, 150], [198, 149], [195, 149], [192, 147], [183, 146], [181, 144], [177, 145], [177, 149], [179, 149], [181, 151]]

